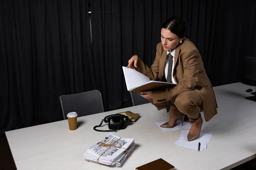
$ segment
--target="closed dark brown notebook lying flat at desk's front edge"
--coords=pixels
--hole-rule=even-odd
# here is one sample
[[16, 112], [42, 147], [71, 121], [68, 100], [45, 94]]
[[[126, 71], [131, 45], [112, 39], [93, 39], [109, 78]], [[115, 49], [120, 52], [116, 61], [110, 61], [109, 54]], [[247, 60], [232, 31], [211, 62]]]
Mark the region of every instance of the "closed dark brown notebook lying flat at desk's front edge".
[[136, 170], [172, 170], [173, 168], [175, 167], [160, 158], [137, 167]]

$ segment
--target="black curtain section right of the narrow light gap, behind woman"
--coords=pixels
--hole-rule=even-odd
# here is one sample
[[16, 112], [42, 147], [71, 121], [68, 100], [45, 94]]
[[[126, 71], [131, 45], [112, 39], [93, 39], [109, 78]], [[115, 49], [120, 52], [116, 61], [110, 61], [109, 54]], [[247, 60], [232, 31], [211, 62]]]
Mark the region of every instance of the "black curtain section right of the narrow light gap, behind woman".
[[256, 57], [255, 8], [254, 0], [92, 0], [93, 54], [105, 73], [109, 109], [130, 104], [122, 66], [134, 54], [150, 66], [161, 24], [172, 16], [185, 21], [212, 85], [238, 82], [242, 57]]

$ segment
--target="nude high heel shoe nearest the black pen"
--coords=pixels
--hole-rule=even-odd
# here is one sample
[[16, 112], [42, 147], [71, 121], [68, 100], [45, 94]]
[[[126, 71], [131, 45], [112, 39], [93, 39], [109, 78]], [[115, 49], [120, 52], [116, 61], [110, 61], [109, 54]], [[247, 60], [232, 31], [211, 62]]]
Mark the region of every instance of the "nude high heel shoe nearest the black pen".
[[196, 120], [194, 123], [192, 123], [187, 136], [188, 141], [194, 141], [199, 138], [202, 125], [203, 125], [203, 119], [201, 117], [198, 120]]

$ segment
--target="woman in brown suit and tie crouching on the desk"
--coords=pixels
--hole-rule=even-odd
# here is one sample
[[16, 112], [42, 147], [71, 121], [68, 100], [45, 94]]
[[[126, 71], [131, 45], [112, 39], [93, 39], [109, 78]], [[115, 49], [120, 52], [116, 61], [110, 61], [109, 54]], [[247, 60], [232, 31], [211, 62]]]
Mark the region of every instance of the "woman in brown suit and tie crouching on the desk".
[[128, 61], [133, 68], [151, 80], [172, 82], [173, 88], [165, 90], [143, 91], [140, 96], [148, 99], [158, 110], [170, 112], [170, 119], [161, 127], [172, 128], [184, 114], [189, 117], [191, 128], [187, 139], [199, 138], [203, 123], [201, 111], [208, 122], [217, 114], [217, 103], [212, 85], [204, 69], [204, 63], [196, 46], [187, 39], [185, 23], [172, 17], [163, 23], [161, 42], [157, 44], [156, 57], [149, 68], [134, 55]]

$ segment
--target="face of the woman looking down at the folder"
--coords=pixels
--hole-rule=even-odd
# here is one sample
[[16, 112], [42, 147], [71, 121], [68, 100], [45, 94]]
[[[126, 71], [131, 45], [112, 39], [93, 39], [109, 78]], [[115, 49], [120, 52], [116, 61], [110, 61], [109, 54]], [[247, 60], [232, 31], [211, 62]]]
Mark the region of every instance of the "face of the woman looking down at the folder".
[[161, 41], [164, 50], [173, 51], [174, 48], [179, 44], [180, 40], [181, 38], [169, 31], [169, 29], [161, 29]]

